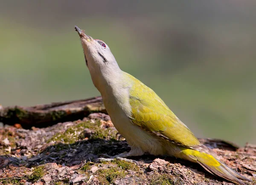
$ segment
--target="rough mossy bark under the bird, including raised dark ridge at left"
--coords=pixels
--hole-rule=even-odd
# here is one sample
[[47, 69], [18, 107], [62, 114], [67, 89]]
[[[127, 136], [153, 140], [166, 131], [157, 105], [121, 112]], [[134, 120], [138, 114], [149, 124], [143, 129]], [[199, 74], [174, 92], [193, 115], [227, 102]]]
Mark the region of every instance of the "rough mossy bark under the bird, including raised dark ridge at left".
[[[71, 113], [67, 113], [67, 110]], [[125, 140], [118, 139], [110, 117], [101, 113], [104, 111], [101, 97], [26, 108], [0, 108], [5, 123], [9, 119], [29, 126], [32, 123], [34, 126], [41, 123], [44, 126], [52, 125], [45, 128], [32, 127], [29, 130], [12, 126], [0, 129], [0, 185], [229, 183], [209, 174], [198, 164], [173, 157], [131, 157], [137, 161], [138, 166], [117, 160], [96, 163], [100, 154], [114, 156], [130, 150]], [[76, 115], [78, 112], [81, 113], [79, 120], [74, 116], [72, 122], [67, 122], [67, 115]], [[56, 121], [60, 123], [55, 124]], [[247, 185], [255, 184], [256, 145], [247, 144], [239, 148], [221, 139], [199, 140], [212, 148], [230, 168], [254, 180]]]

